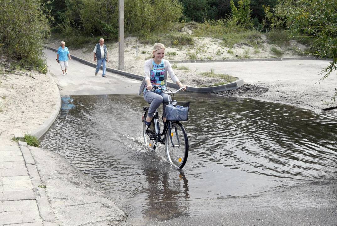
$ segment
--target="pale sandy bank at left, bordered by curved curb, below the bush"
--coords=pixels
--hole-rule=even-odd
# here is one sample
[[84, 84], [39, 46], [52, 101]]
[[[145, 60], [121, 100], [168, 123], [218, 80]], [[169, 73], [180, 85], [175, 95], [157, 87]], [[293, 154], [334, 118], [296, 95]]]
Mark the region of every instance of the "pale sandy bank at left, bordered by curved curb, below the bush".
[[37, 129], [56, 110], [56, 83], [49, 75], [0, 74], [0, 142]]

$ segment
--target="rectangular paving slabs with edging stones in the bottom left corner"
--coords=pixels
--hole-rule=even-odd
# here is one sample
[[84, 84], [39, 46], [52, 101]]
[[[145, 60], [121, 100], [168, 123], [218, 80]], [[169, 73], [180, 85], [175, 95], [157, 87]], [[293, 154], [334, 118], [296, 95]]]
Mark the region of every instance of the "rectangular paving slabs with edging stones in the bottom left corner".
[[26, 142], [0, 144], [0, 226], [58, 225], [41, 185]]

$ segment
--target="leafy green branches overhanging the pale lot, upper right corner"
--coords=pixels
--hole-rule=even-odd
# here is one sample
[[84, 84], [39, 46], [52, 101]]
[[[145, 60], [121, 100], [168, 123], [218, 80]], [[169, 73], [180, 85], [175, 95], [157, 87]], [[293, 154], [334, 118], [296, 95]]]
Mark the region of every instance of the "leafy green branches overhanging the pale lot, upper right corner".
[[[336, 0], [281, 0], [273, 16], [285, 18], [275, 25], [286, 23], [292, 36], [310, 37], [313, 55], [332, 58], [332, 62], [321, 75], [319, 82], [337, 70], [337, 2]], [[328, 105], [337, 98], [336, 93]]]

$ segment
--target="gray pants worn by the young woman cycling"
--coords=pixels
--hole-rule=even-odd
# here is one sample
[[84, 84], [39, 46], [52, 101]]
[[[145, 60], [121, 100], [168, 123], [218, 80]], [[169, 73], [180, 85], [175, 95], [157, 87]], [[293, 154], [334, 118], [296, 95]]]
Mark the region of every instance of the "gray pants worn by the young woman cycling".
[[[152, 117], [153, 112], [159, 108], [161, 103], [169, 101], [168, 97], [169, 95], [163, 92], [153, 92], [153, 91], [144, 92], [144, 100], [147, 103], [150, 103], [148, 116]], [[171, 101], [171, 98], [170, 98], [170, 101]], [[163, 117], [166, 117], [165, 105], [163, 105]]]

